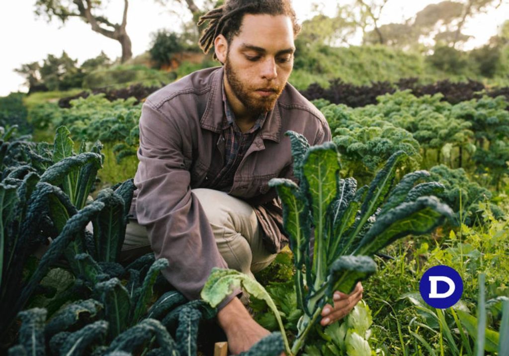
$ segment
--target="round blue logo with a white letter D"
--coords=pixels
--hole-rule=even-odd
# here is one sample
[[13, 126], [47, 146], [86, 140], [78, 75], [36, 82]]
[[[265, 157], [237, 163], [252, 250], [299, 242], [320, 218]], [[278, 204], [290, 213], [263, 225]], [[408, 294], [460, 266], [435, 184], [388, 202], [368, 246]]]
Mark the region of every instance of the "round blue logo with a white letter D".
[[452, 307], [463, 294], [463, 280], [454, 268], [445, 265], [433, 266], [419, 282], [422, 299], [433, 308]]

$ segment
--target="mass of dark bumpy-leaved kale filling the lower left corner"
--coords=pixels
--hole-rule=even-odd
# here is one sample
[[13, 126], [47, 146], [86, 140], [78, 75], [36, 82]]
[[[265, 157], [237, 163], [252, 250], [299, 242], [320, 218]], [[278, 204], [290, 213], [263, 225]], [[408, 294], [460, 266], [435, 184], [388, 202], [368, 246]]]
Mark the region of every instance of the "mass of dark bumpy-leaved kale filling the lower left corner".
[[[100, 143], [93, 152], [84, 152], [82, 144], [76, 154], [66, 127], [57, 130], [52, 146], [20, 141], [13, 132], [3, 132], [4, 139], [13, 140], [2, 143], [0, 172], [0, 332], [7, 335], [29, 302], [47, 307], [49, 313], [39, 309], [40, 317], [20, 314], [20, 345], [10, 353], [38, 354], [36, 340], [41, 354], [45, 344], [59, 355], [134, 352], [138, 347], [150, 354], [195, 354], [199, 322], [216, 311], [201, 301], [186, 303], [176, 291], [157, 299], [155, 286], [161, 285], [159, 272], [167, 267], [166, 259], [154, 261], [149, 254], [126, 268], [115, 262], [135, 189], [132, 180], [103, 189], [92, 200], [91, 183], [102, 161]], [[93, 232], [86, 230], [91, 222]], [[47, 251], [34, 260], [31, 254], [49, 238]], [[72, 274], [50, 270], [63, 256]], [[31, 299], [34, 293], [38, 295]], [[47, 314], [52, 317], [44, 328]], [[178, 345], [165, 327], [176, 330]], [[25, 337], [23, 328], [32, 334]]]

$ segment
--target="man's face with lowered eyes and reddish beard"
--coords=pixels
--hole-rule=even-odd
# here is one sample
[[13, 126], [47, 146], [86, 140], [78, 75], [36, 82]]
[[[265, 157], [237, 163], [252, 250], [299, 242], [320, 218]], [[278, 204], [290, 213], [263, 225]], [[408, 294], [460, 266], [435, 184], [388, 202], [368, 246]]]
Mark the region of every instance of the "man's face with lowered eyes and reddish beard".
[[295, 51], [288, 16], [245, 15], [224, 63], [227, 85], [251, 113], [271, 110], [285, 88]]

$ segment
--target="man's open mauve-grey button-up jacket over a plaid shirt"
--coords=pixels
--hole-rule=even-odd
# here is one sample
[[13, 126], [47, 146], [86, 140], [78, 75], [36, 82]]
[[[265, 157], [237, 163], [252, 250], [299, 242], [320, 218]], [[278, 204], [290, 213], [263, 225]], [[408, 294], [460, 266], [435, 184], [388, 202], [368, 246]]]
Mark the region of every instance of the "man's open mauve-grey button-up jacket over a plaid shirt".
[[[214, 266], [227, 268], [191, 193], [207, 188], [223, 166], [222, 79], [223, 68], [216, 67], [168, 84], [147, 98], [139, 120], [137, 190], [130, 213], [147, 227], [156, 257], [168, 259], [163, 275], [188, 299], [200, 298]], [[323, 114], [290, 84], [268, 113], [229, 192], [253, 206], [272, 253], [288, 242], [279, 229], [277, 195], [268, 186], [274, 177], [293, 179], [288, 130], [303, 134], [311, 145], [331, 136]]]

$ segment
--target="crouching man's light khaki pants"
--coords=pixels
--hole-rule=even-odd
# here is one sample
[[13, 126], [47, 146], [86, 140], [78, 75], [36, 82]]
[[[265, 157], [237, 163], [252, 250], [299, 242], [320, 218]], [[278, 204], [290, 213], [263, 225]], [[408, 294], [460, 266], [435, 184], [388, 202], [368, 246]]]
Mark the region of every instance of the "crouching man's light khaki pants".
[[[277, 256], [262, 242], [262, 228], [252, 207], [225, 192], [193, 189], [210, 222], [219, 253], [228, 267], [253, 277]], [[135, 220], [127, 224], [121, 260], [133, 260], [150, 252], [145, 226]], [[204, 256], [204, 258], [206, 258]]]

